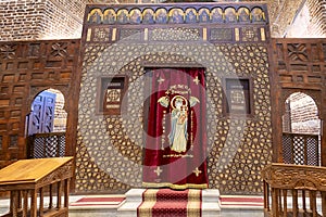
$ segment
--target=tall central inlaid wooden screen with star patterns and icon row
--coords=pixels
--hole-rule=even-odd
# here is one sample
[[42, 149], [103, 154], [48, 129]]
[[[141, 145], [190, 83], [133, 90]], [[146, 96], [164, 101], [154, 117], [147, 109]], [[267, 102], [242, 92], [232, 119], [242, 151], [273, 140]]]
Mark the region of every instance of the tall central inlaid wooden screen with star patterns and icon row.
[[[147, 68], [197, 67], [206, 79], [209, 188], [262, 193], [260, 171], [272, 161], [267, 17], [260, 3], [88, 5], [76, 192], [141, 187], [146, 84], [152, 79]], [[103, 85], [113, 77], [123, 77], [126, 89], [114, 80], [110, 88]], [[225, 112], [227, 78], [243, 81], [229, 89], [233, 105]], [[118, 106], [125, 112], [112, 113]], [[99, 111], [106, 108], [111, 112]]]

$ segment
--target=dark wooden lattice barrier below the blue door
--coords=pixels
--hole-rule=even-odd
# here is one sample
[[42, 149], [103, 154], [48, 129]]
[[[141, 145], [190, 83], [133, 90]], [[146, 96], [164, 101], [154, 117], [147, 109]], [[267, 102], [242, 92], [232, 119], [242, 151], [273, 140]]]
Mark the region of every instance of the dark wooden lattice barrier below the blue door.
[[47, 158], [65, 155], [65, 132], [36, 133], [27, 138], [27, 157]]

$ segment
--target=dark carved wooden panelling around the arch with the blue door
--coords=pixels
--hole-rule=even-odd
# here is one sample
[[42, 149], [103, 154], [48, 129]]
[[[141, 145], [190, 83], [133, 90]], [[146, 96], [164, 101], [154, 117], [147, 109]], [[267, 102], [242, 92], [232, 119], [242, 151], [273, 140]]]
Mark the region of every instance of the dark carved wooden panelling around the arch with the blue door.
[[64, 94], [68, 113], [65, 153], [73, 155], [79, 44], [79, 40], [0, 42], [0, 168], [26, 158], [26, 115], [34, 98], [49, 88]]

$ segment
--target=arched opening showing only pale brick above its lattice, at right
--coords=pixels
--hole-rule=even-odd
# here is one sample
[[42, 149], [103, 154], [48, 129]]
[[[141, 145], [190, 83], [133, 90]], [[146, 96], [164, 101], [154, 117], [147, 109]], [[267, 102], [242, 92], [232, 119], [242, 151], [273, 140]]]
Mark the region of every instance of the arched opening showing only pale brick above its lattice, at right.
[[294, 92], [285, 102], [283, 116], [284, 163], [321, 165], [321, 119], [315, 101]]

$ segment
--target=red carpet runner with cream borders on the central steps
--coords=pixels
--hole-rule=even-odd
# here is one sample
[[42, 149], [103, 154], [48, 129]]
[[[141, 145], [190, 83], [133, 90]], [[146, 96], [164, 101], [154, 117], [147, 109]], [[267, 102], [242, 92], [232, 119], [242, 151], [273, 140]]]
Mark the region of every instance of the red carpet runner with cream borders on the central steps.
[[201, 190], [148, 189], [137, 209], [138, 217], [200, 217]]

